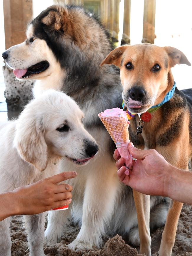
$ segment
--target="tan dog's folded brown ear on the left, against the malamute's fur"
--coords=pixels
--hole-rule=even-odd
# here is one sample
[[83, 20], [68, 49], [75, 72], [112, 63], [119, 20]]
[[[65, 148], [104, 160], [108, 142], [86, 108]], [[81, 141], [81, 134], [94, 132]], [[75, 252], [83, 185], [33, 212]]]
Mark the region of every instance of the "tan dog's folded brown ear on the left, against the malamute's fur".
[[128, 46], [121, 46], [111, 51], [110, 54], [101, 62], [100, 66], [104, 64], [114, 64], [115, 66], [121, 67], [121, 59], [124, 51]]

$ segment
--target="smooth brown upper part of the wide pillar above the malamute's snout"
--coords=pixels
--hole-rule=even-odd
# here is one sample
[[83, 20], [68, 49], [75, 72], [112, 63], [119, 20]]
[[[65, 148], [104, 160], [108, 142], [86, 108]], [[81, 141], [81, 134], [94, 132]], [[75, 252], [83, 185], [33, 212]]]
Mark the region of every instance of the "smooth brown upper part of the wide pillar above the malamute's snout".
[[32, 19], [32, 0], [3, 0], [5, 48], [22, 43]]

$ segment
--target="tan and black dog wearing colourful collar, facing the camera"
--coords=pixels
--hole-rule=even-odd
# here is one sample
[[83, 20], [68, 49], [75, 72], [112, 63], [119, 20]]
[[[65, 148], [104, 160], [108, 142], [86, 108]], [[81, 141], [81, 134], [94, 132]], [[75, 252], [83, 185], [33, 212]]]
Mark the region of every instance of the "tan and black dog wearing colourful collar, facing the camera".
[[[171, 68], [175, 64], [191, 66], [178, 49], [148, 43], [116, 48], [101, 66], [103, 64], [115, 64], [120, 68], [124, 103], [129, 112], [137, 114], [160, 104], [167, 93], [174, 91]], [[141, 120], [139, 125], [139, 115], [135, 114], [129, 126], [130, 140], [136, 147], [156, 149], [169, 163], [180, 169], [188, 169], [188, 159], [192, 157], [192, 132], [189, 129], [192, 124], [192, 101], [189, 97], [192, 90], [184, 90], [184, 93], [175, 88], [173, 97], [151, 113], [149, 122], [145, 122], [143, 126]], [[138, 126], [143, 126], [143, 129], [137, 135]], [[134, 200], [139, 225], [140, 253], [151, 255], [149, 196], [134, 191]], [[171, 256], [182, 206], [181, 202], [170, 203], [159, 256]]]

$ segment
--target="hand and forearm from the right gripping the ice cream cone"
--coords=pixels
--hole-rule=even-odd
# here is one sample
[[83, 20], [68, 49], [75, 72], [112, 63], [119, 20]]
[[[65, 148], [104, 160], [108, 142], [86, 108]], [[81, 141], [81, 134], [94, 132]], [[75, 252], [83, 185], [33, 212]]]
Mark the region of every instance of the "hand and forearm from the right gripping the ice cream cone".
[[161, 195], [192, 205], [192, 172], [168, 163], [156, 150], [140, 150], [129, 143], [131, 155], [137, 159], [130, 175], [125, 175], [124, 159], [115, 150], [118, 178], [124, 184], [147, 195]]

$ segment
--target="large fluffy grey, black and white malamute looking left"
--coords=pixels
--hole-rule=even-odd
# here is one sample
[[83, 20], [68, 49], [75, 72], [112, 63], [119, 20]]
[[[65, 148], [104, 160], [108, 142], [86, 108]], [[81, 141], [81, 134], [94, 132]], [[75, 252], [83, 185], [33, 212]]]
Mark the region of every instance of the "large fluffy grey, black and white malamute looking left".
[[[47, 88], [55, 88], [74, 98], [85, 114], [84, 126], [100, 147], [94, 162], [75, 168], [78, 177], [72, 181], [71, 211], [48, 214], [45, 231], [48, 244], [60, 240], [71, 213], [73, 220], [81, 225], [77, 238], [69, 244], [71, 249], [100, 247], [102, 235], [117, 232], [130, 233], [130, 241], [139, 243], [132, 190], [118, 181], [112, 158], [115, 145], [98, 118], [98, 113], [107, 108], [121, 108], [122, 103], [119, 69], [100, 67], [111, 50], [108, 33], [93, 14], [82, 7], [54, 5], [31, 22], [25, 42], [6, 51], [9, 67], [28, 69], [21, 79], [37, 79], [35, 96]], [[31, 66], [41, 61], [46, 61], [47, 69], [32, 72]], [[61, 170], [72, 171], [74, 166], [64, 160]], [[151, 227], [163, 225], [166, 200], [152, 197], [151, 208]]]

